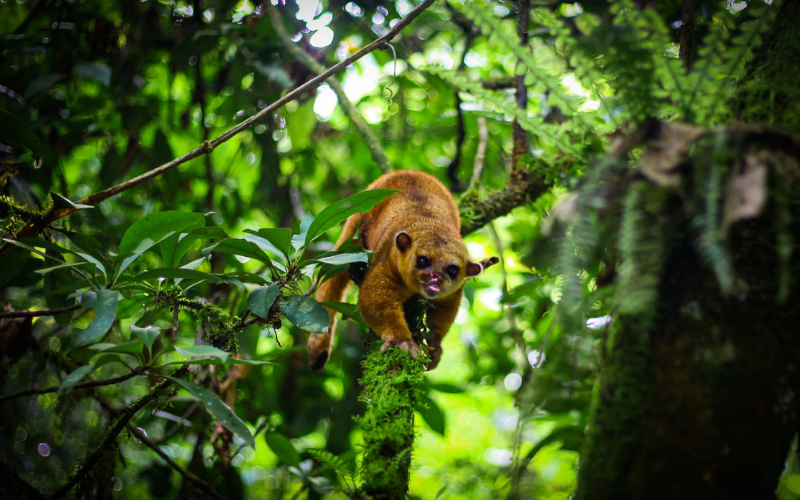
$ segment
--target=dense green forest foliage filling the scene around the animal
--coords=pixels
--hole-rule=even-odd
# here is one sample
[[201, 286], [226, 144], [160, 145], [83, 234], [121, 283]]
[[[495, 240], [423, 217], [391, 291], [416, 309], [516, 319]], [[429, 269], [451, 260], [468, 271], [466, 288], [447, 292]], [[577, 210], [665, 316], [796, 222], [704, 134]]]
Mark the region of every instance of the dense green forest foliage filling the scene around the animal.
[[[758, 84], [746, 70], [777, 7], [643, 3], [434, 2], [337, 81], [274, 110], [415, 5], [0, 3], [7, 491], [344, 498], [380, 495], [397, 481], [383, 473], [410, 463], [414, 498], [568, 496], [622, 335], [607, 338], [609, 314], [641, 339], [659, 319], [674, 229], [662, 214], [689, 200], [693, 251], [725, 295], [737, 286], [728, 229], [755, 215], [724, 207], [729, 165], [757, 140], [720, 126], [743, 116], [734, 92]], [[707, 168], [679, 196], [689, 149]], [[762, 163], [786, 187], [782, 161]], [[326, 304], [347, 321], [312, 374], [305, 332], [327, 324], [314, 288], [368, 260], [330, 242], [392, 194], [363, 191], [390, 168], [446, 182], [473, 257], [501, 265], [467, 284], [435, 371], [401, 377], [397, 358], [377, 355], [362, 373], [371, 334], [355, 307]], [[793, 208], [788, 188], [778, 196], [785, 301]], [[645, 344], [632, 349], [649, 355]], [[800, 495], [798, 478], [787, 471], [782, 498]]]

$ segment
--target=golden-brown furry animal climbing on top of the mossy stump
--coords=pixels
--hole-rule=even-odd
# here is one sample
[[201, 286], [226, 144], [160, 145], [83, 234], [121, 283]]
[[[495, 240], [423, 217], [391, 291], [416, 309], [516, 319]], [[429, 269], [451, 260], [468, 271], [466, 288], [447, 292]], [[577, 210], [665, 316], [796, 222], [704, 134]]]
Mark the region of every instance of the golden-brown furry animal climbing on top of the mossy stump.
[[[411, 351], [419, 347], [403, 315], [403, 303], [413, 295], [422, 295], [433, 307], [428, 310], [427, 326], [434, 333], [435, 345], [428, 369], [439, 363], [441, 340], [453, 324], [461, 304], [464, 282], [479, 275], [497, 258], [481, 263], [470, 260], [461, 240], [458, 207], [450, 192], [432, 175], [415, 170], [401, 170], [380, 177], [367, 189], [397, 189], [402, 192], [385, 199], [365, 214], [355, 214], [345, 221], [336, 248], [353, 238], [361, 225], [359, 242], [372, 250], [372, 260], [361, 284], [358, 308], [367, 324], [383, 340], [383, 350], [391, 346]], [[418, 259], [426, 257], [431, 265], [420, 269]], [[457, 266], [451, 278], [448, 266]], [[320, 302], [341, 302], [350, 280], [339, 274], [323, 283], [317, 291]], [[438, 291], [437, 291], [438, 290]], [[330, 356], [336, 313], [330, 315], [327, 334], [310, 334], [308, 359], [312, 370], [325, 367]]]

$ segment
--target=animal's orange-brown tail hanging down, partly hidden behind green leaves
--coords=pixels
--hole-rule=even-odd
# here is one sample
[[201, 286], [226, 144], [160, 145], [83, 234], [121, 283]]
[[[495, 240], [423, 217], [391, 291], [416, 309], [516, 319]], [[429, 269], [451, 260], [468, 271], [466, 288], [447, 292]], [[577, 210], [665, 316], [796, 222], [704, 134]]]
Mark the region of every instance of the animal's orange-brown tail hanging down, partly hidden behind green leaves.
[[[364, 214], [351, 215], [344, 223], [342, 234], [336, 242], [334, 248], [341, 248], [356, 234], [358, 226], [364, 219]], [[315, 298], [317, 302], [342, 302], [344, 301], [347, 289], [350, 287], [350, 276], [345, 271], [337, 274], [319, 286]], [[308, 336], [306, 348], [308, 350], [308, 366], [312, 371], [320, 371], [325, 368], [330, 358], [331, 348], [333, 347], [333, 334], [336, 330], [336, 311], [328, 310], [328, 333], [311, 333]]]

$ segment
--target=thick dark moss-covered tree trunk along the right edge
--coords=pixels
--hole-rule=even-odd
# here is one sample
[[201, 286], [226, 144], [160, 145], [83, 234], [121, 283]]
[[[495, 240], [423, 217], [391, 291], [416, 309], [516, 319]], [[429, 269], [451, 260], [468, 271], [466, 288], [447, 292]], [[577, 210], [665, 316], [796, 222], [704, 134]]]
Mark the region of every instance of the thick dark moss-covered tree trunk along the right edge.
[[[739, 118], [793, 133], [800, 130], [798, 4], [782, 4], [732, 106]], [[796, 160], [797, 145], [791, 148]], [[771, 178], [760, 217], [733, 226], [736, 278], [728, 296], [693, 250], [683, 207], [665, 213], [678, 231], [656, 320], [648, 330], [635, 318], [614, 317], [577, 498], [774, 498], [798, 423], [800, 265], [795, 251], [788, 273], [782, 270], [778, 244], [782, 234], [795, 244], [800, 237], [798, 203], [780, 199], [800, 199], [798, 184]]]

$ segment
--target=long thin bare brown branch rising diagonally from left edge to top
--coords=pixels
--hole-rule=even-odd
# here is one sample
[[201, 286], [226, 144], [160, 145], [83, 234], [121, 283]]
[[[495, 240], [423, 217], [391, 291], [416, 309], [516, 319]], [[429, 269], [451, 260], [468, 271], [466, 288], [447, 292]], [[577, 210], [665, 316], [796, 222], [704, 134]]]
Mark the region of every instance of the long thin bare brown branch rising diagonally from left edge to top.
[[[358, 61], [359, 59], [361, 59], [365, 55], [369, 54], [370, 52], [373, 52], [376, 49], [384, 48], [386, 46], [387, 42], [391, 41], [395, 36], [397, 36], [397, 34], [400, 33], [406, 26], [411, 24], [411, 21], [416, 19], [417, 16], [419, 16], [422, 13], [422, 11], [424, 11], [425, 9], [430, 7], [431, 4], [433, 4], [435, 1], [436, 0], [424, 0], [422, 3], [417, 5], [413, 10], [411, 10], [411, 12], [409, 12], [406, 17], [401, 19], [400, 22], [397, 23], [394, 28], [390, 29], [385, 35], [383, 35], [382, 37], [378, 38], [374, 42], [370, 43], [369, 45], [367, 45], [363, 49], [359, 50], [355, 54], [345, 58], [343, 61], [341, 61], [341, 62], [339, 62], [337, 64], [334, 64], [328, 70], [324, 71], [323, 73], [320, 73], [319, 75], [317, 75], [314, 78], [310, 79], [309, 81], [307, 81], [303, 85], [300, 85], [299, 87], [295, 88], [291, 92], [288, 92], [285, 96], [283, 96], [280, 99], [278, 99], [277, 101], [273, 102], [272, 104], [270, 104], [266, 108], [262, 109], [258, 113], [254, 114], [250, 118], [244, 120], [243, 122], [239, 123], [238, 125], [236, 125], [236, 126], [230, 128], [229, 130], [223, 132], [219, 137], [217, 137], [215, 139], [212, 139], [210, 141], [204, 141], [200, 146], [197, 146], [196, 148], [194, 148], [193, 150], [191, 150], [188, 153], [184, 154], [183, 156], [175, 158], [174, 160], [171, 160], [171, 161], [161, 165], [160, 167], [154, 168], [153, 170], [150, 170], [149, 172], [145, 172], [144, 174], [142, 174], [142, 175], [140, 175], [138, 177], [134, 177], [133, 179], [130, 179], [130, 180], [127, 180], [127, 181], [122, 182], [120, 184], [117, 184], [116, 186], [113, 186], [113, 187], [110, 187], [108, 189], [104, 189], [103, 191], [98, 191], [97, 193], [89, 195], [86, 198], [80, 200], [78, 203], [83, 204], [83, 205], [97, 205], [98, 203], [100, 203], [103, 200], [106, 200], [106, 199], [108, 199], [108, 198], [110, 198], [112, 196], [115, 196], [115, 195], [117, 195], [119, 193], [127, 191], [128, 189], [136, 187], [139, 184], [142, 184], [143, 182], [149, 181], [150, 179], [158, 177], [159, 175], [163, 174], [164, 172], [172, 170], [173, 168], [177, 167], [178, 165], [182, 165], [182, 164], [186, 163], [189, 160], [193, 160], [194, 158], [197, 158], [198, 156], [202, 156], [204, 154], [210, 154], [217, 146], [219, 146], [220, 144], [222, 144], [224, 142], [227, 142], [233, 136], [237, 135], [238, 133], [242, 132], [243, 130], [247, 130], [247, 129], [253, 127], [256, 123], [258, 123], [259, 121], [263, 120], [264, 118], [272, 116], [272, 114], [277, 109], [281, 108], [286, 103], [288, 103], [290, 101], [293, 101], [296, 97], [302, 95], [303, 93], [316, 88], [319, 84], [321, 84], [322, 82], [327, 80], [329, 77], [339, 73], [340, 71], [345, 69], [347, 66], [349, 66], [349, 65], [353, 64], [354, 62]], [[71, 214], [73, 214], [73, 213], [75, 213], [77, 211], [78, 211], [78, 209], [76, 209], [76, 208], [66, 208], [66, 209], [61, 209], [61, 210], [54, 211], [49, 217], [49, 222], [53, 222], [53, 221], [56, 221], [58, 219], [62, 219], [62, 218], [66, 217], [68, 215], [71, 215]], [[17, 233], [16, 237], [17, 237], [17, 239], [19, 239], [19, 238], [28, 236], [28, 235], [38, 231], [38, 229], [39, 229], [39, 226], [37, 224], [33, 224], [33, 223], [29, 222], [22, 229], [19, 230], [19, 232]], [[0, 255], [2, 255], [8, 248], [9, 248], [8, 244], [3, 245], [3, 247], [0, 248]]]

